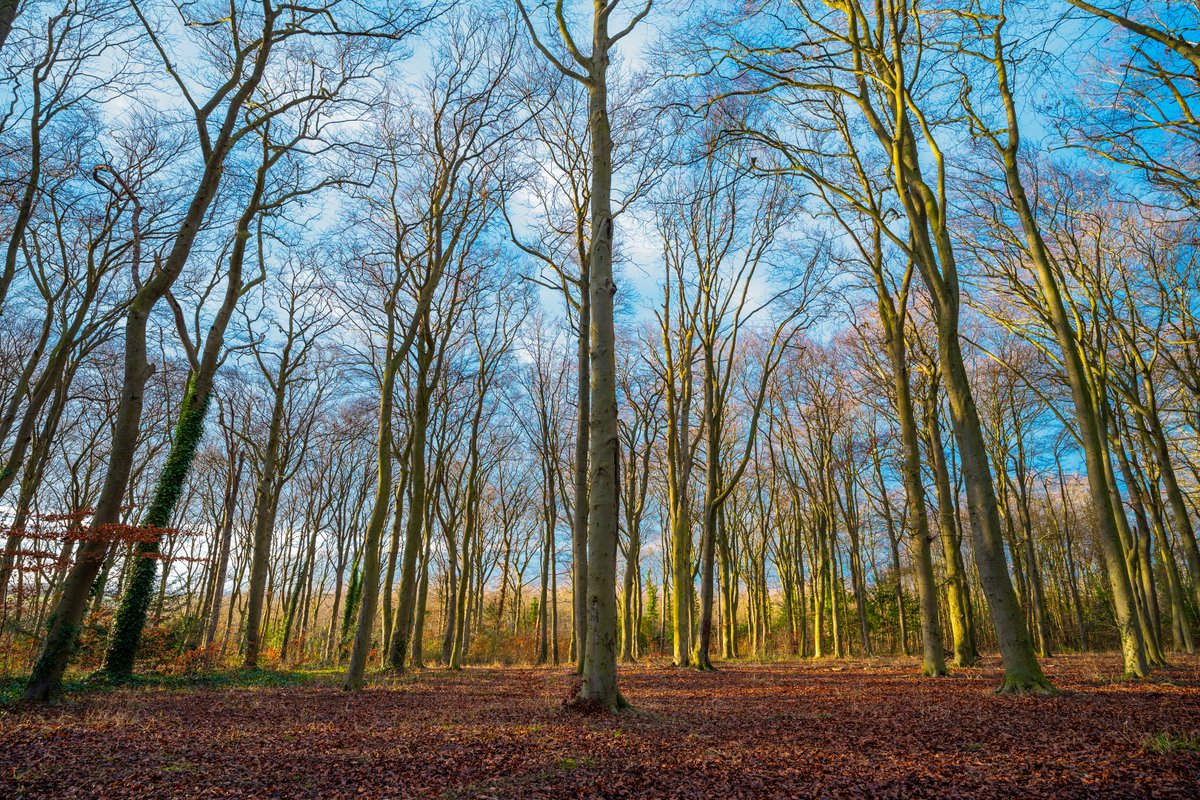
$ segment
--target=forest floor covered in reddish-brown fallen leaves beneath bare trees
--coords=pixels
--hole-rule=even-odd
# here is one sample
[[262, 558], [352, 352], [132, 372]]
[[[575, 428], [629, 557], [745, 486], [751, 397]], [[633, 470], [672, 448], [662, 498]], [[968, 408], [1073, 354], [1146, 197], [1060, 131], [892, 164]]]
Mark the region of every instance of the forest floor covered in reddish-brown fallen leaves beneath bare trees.
[[637, 667], [617, 716], [564, 709], [562, 668], [92, 691], [0, 706], [0, 796], [1200, 798], [1200, 657], [1174, 664], [1056, 657], [1056, 697], [994, 694], [994, 657]]

